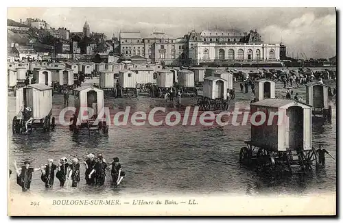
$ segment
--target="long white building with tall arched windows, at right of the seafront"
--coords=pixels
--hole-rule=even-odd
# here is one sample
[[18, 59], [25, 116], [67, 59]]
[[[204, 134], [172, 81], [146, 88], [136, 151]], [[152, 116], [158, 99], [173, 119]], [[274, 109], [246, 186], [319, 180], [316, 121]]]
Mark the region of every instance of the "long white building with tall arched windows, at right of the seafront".
[[265, 43], [257, 31], [211, 29], [187, 36], [189, 60], [193, 65], [279, 63], [280, 44]]

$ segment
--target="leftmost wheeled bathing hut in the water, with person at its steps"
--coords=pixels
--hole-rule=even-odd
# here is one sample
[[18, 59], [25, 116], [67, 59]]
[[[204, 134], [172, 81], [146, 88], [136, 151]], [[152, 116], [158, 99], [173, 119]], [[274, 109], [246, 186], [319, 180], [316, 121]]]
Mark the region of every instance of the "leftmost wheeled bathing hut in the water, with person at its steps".
[[32, 109], [32, 124], [28, 130], [43, 128], [49, 131], [55, 127], [55, 118], [51, 120], [52, 114], [52, 88], [42, 84], [34, 83], [16, 90], [16, 116], [12, 120], [13, 133], [22, 133], [25, 128], [22, 112], [25, 107]]

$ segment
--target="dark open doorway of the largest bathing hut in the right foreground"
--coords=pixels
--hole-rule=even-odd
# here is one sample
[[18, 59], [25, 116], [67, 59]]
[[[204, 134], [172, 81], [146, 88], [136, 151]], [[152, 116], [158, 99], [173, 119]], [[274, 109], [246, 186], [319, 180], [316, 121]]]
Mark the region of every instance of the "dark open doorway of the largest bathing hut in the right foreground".
[[298, 106], [289, 107], [287, 117], [286, 140], [289, 148], [303, 149], [303, 108]]

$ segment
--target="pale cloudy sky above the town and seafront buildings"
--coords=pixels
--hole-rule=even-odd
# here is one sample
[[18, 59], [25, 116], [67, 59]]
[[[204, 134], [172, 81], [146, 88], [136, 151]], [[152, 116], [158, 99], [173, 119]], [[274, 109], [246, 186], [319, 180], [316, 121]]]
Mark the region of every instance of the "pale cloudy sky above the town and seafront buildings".
[[335, 8], [8, 8], [8, 18], [42, 18], [51, 27], [91, 31], [108, 38], [120, 31], [165, 31], [182, 37], [192, 29], [257, 29], [263, 42], [287, 47], [298, 58], [329, 58], [336, 54]]

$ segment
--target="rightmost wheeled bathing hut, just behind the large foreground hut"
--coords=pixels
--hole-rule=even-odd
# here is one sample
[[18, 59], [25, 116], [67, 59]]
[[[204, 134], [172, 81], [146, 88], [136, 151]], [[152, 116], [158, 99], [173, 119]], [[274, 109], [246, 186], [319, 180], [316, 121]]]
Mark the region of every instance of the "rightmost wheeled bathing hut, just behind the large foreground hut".
[[306, 103], [313, 107], [315, 117], [331, 120], [332, 109], [329, 105], [329, 86], [312, 82], [306, 85]]

